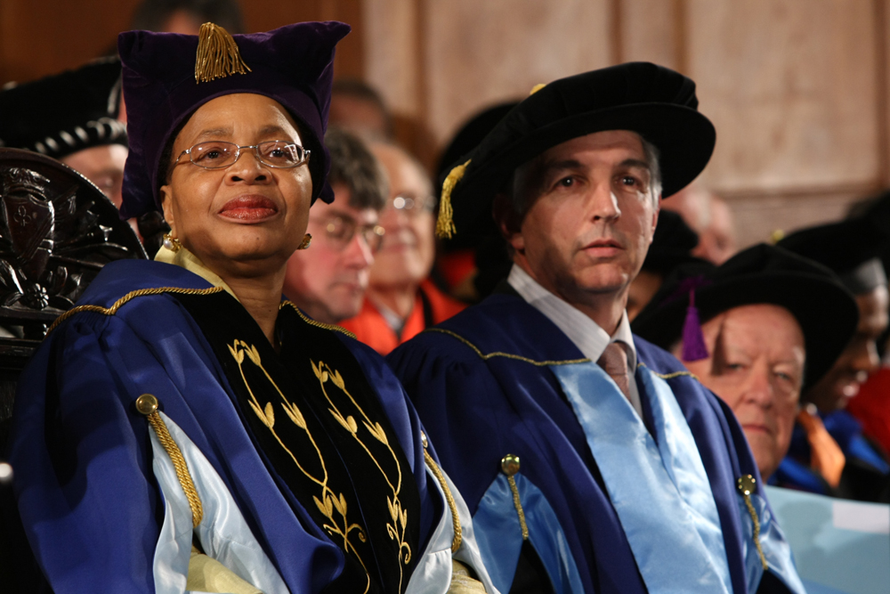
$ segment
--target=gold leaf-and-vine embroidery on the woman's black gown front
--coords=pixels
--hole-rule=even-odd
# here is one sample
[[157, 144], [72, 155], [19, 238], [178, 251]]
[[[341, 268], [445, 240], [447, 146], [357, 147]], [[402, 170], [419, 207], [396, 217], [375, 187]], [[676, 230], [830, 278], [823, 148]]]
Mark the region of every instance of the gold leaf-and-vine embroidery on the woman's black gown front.
[[[312, 438], [311, 432], [306, 428], [306, 421], [303, 418], [302, 411], [300, 411], [299, 407], [297, 407], [295, 403], [287, 400], [285, 395], [282, 394], [279, 387], [275, 384], [274, 380], [272, 380], [269, 372], [263, 368], [263, 363], [260, 359], [259, 351], [256, 349], [255, 346], [248, 346], [247, 343], [245, 343], [243, 340], [236, 340], [231, 346], [229, 346], [229, 350], [232, 357], [235, 359], [236, 362], [238, 362], [239, 370], [241, 371], [241, 378], [244, 380], [244, 384], [247, 387], [247, 392], [251, 398], [251, 409], [263, 422], [263, 425], [269, 427], [271, 434], [275, 437], [281, 447], [284, 448], [284, 450], [290, 456], [291, 460], [294, 460], [297, 468], [299, 468], [305, 476], [309, 477], [313, 483], [318, 484], [321, 487], [321, 499], [319, 499], [318, 496], [313, 496], [312, 500], [315, 502], [315, 505], [319, 509], [321, 514], [324, 517], [327, 517], [328, 520], [330, 520], [330, 522], [332, 523], [332, 525], [324, 525], [325, 529], [328, 530], [328, 533], [330, 533], [332, 536], [337, 535], [343, 538], [344, 550], [351, 551], [352, 554], [359, 560], [361, 566], [365, 569], [365, 573], [368, 574], [368, 567], [365, 566], [365, 563], [359, 556], [358, 551], [349, 541], [350, 533], [352, 533], [352, 531], [354, 530], [356, 531], [358, 539], [361, 542], [366, 542], [366, 531], [358, 524], [349, 523], [346, 517], [346, 499], [343, 493], [335, 493], [330, 487], [328, 487], [328, 471], [325, 467], [324, 457], [321, 455], [318, 445], [316, 445], [315, 440]], [[247, 384], [247, 378], [245, 377], [244, 370], [242, 368], [245, 356], [247, 356], [247, 359], [250, 362], [254, 363], [256, 367], [263, 371], [263, 374], [269, 380], [272, 387], [274, 387], [276, 392], [278, 392], [279, 397], [281, 398], [280, 405], [287, 414], [287, 418], [290, 419], [296, 427], [303, 429], [309, 440], [312, 442], [312, 446], [315, 448], [315, 452], [319, 457], [321, 468], [324, 473], [324, 476], [322, 476], [322, 478], [317, 478], [309, 474], [301, 466], [294, 453], [287, 449], [287, 446], [281, 441], [279, 435], [275, 433], [275, 415], [272, 403], [266, 403], [264, 408], [261, 407], [260, 403], [256, 400], [253, 390], [251, 390], [250, 386]], [[379, 423], [379, 421], [370, 419], [365, 411], [360, 407], [359, 403], [355, 401], [355, 399], [346, 389], [344, 378], [340, 375], [340, 372], [338, 370], [331, 369], [325, 362], [320, 361], [318, 362], [318, 364], [316, 364], [314, 361], [310, 360], [310, 364], [312, 365], [312, 372], [315, 374], [315, 378], [319, 380], [321, 391], [325, 395], [325, 398], [328, 400], [328, 411], [334, 417], [334, 419], [336, 419], [337, 423], [341, 427], [344, 427], [344, 429], [348, 431], [350, 435], [352, 435], [352, 438], [360, 444], [361, 448], [368, 454], [368, 458], [370, 458], [374, 462], [376, 468], [380, 471], [381, 475], [386, 481], [386, 484], [389, 485], [389, 488], [392, 491], [392, 496], [386, 496], [387, 509], [389, 510], [389, 515], [392, 519], [392, 523], [388, 522], [386, 524], [386, 533], [389, 535], [390, 539], [392, 541], [395, 541], [396, 544], [399, 546], [399, 591], [401, 591], [401, 582], [404, 579], [404, 566], [407, 566], [411, 561], [411, 547], [405, 540], [405, 534], [408, 530], [408, 510], [402, 509], [401, 501], [399, 500], [402, 481], [401, 464], [399, 463], [399, 459], [389, 443], [384, 427]], [[353, 417], [351, 414], [344, 415], [344, 413], [340, 411], [340, 408], [336, 405], [336, 403], [334, 403], [331, 396], [328, 395], [328, 389], [326, 387], [326, 385], [328, 384], [335, 386], [348, 397], [349, 402], [352, 403], [352, 407], [354, 407], [354, 409], [360, 416], [361, 427], [364, 427], [369, 435], [376, 439], [377, 442], [383, 443], [384, 446], [386, 446], [386, 449], [389, 450], [396, 467], [396, 477], [394, 484], [392, 481], [392, 477], [384, 471], [384, 469], [380, 466], [380, 463], [376, 460], [374, 454], [370, 452], [368, 446], [365, 444], [364, 441], [362, 441], [363, 437], [359, 433], [359, 424], [355, 420], [355, 417]], [[335, 511], [337, 517], [342, 518], [342, 522], [340, 524], [338, 524], [335, 519]], [[365, 592], [367, 592], [369, 588], [370, 576], [368, 575], [368, 584], [365, 587]]]

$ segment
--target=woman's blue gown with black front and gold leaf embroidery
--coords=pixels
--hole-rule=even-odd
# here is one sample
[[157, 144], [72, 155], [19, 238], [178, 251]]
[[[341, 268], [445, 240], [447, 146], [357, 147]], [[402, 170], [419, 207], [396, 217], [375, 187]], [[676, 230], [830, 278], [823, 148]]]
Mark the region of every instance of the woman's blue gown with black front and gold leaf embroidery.
[[193, 543], [267, 594], [445, 592], [452, 545], [490, 586], [383, 360], [288, 302], [276, 351], [228, 290], [108, 264], [23, 372], [9, 459], [53, 590], [181, 594]]

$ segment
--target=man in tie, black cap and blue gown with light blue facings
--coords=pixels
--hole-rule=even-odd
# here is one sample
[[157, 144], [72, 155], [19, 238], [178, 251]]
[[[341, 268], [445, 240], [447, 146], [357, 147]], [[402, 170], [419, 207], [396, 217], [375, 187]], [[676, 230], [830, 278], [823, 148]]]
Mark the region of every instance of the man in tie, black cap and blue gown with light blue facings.
[[768, 506], [738, 423], [625, 313], [659, 197], [713, 151], [697, 105], [653, 64], [563, 78], [444, 183], [439, 231], [496, 224], [514, 267], [389, 362], [499, 590], [802, 591], [784, 543], [756, 537]]

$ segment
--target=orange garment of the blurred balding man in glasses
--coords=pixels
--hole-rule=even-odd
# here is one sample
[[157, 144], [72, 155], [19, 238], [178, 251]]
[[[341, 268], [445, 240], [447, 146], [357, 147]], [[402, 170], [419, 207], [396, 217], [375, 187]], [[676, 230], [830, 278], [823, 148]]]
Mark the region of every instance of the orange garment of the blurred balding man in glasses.
[[[424, 298], [427, 307], [424, 306]], [[445, 295], [441, 290], [436, 289], [433, 282], [426, 280], [421, 282], [420, 288], [417, 289], [414, 308], [411, 309], [408, 320], [405, 321], [405, 325], [401, 329], [401, 337], [396, 336], [396, 333], [386, 323], [384, 316], [377, 311], [368, 297], [365, 297], [359, 314], [354, 318], [340, 322], [340, 325], [377, 353], [389, 354], [396, 346], [414, 338], [427, 326], [448, 320], [465, 307], [465, 304]], [[429, 313], [430, 320], [425, 319], [427, 317], [425, 310], [426, 313]]]

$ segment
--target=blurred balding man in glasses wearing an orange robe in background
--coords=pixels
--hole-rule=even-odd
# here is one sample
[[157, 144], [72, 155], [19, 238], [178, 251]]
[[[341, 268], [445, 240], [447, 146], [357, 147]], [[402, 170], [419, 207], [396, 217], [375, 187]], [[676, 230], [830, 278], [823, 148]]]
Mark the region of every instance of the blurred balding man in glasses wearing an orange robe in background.
[[361, 312], [342, 325], [387, 354], [464, 305], [427, 278], [435, 256], [435, 219], [433, 186], [424, 168], [392, 144], [375, 143], [371, 150], [389, 179], [390, 199], [380, 214], [385, 234]]

